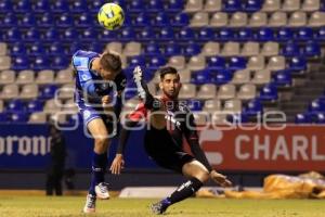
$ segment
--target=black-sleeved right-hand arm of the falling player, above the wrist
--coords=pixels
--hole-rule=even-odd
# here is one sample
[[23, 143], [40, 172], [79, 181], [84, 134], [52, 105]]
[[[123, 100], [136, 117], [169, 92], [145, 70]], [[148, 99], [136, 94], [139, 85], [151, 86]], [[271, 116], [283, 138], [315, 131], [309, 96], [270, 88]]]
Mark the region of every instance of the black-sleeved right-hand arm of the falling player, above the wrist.
[[191, 148], [191, 151], [194, 155], [194, 157], [199, 161], [207, 169], [209, 173], [212, 171], [212, 167], [209, 164], [206, 154], [204, 153], [204, 151], [200, 149], [199, 142], [198, 142], [198, 135], [196, 131], [196, 125], [194, 122], [194, 116], [193, 114], [188, 114], [190, 115], [190, 119], [188, 119], [188, 125], [191, 126], [186, 126], [185, 129], [185, 138], [186, 141]]

